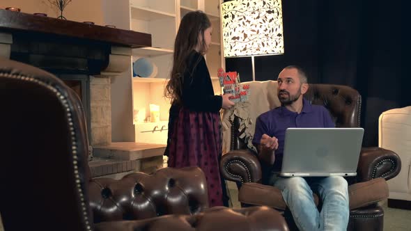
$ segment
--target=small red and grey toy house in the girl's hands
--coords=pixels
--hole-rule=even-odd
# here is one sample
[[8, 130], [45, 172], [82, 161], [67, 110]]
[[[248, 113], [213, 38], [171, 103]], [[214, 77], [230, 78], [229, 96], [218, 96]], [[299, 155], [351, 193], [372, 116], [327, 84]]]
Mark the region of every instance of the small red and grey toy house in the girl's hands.
[[235, 103], [248, 101], [249, 84], [241, 84], [238, 72], [224, 72], [220, 67], [217, 70], [217, 77], [224, 94], [231, 94], [228, 99]]

